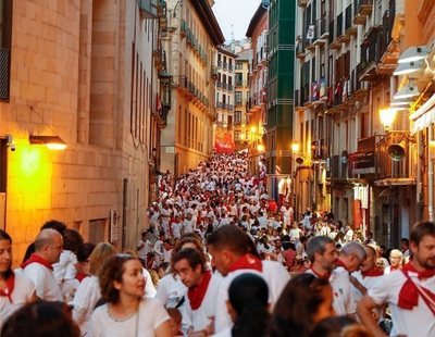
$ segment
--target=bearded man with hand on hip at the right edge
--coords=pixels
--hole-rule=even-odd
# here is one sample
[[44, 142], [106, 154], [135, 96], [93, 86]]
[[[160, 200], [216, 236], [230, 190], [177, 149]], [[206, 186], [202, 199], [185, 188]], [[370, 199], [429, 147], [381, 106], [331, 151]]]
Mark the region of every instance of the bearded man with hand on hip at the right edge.
[[390, 336], [435, 336], [435, 224], [417, 223], [410, 233], [413, 259], [401, 271], [381, 276], [358, 303], [358, 315], [375, 336], [384, 336], [372, 310], [388, 303]]

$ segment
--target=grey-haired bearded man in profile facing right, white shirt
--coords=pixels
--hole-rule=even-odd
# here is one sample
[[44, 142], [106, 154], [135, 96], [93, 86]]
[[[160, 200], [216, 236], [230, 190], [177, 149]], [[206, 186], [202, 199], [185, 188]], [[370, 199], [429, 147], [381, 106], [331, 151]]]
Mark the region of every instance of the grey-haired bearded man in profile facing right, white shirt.
[[335, 269], [338, 252], [334, 241], [327, 236], [315, 236], [307, 244], [307, 254], [311, 261], [311, 269], [307, 273], [330, 280], [334, 291], [335, 312], [338, 315], [355, 315], [356, 307], [349, 273]]

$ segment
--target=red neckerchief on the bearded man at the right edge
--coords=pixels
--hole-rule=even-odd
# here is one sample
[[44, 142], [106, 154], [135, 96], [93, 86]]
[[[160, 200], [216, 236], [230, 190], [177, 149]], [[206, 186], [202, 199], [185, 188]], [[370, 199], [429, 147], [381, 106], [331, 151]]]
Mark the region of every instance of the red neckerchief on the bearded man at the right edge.
[[[407, 277], [407, 280], [400, 289], [397, 305], [402, 309], [412, 310], [413, 307], [419, 304], [419, 290], [417, 289], [414, 283], [409, 278], [408, 272], [417, 273], [419, 275], [419, 278], [428, 278], [435, 276], [435, 270], [425, 270], [423, 272], [418, 272], [411, 263], [408, 263], [401, 269], [401, 272]], [[433, 301], [435, 301], [435, 294], [421, 286], [420, 288], [423, 289], [424, 292]]]

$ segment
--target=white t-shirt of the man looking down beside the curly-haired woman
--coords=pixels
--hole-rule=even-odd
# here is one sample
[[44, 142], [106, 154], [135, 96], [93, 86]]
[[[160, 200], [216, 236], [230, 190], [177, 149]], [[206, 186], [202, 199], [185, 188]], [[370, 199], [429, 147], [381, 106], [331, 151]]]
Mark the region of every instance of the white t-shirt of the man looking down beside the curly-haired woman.
[[183, 327], [192, 326], [194, 332], [198, 332], [210, 325], [209, 317], [215, 316], [215, 301], [221, 280], [221, 276], [212, 275], [202, 303], [197, 310], [191, 309], [189, 298], [186, 295], [186, 305], [184, 305], [182, 312]]

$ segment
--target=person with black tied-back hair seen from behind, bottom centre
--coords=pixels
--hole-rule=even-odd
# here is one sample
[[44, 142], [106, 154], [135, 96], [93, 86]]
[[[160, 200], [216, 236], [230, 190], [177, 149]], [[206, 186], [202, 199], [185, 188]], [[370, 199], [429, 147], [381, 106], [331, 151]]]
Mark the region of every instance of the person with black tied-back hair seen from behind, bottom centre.
[[261, 276], [251, 273], [237, 276], [231, 283], [226, 302], [234, 325], [215, 336], [265, 336], [270, 319], [268, 301], [268, 284]]

